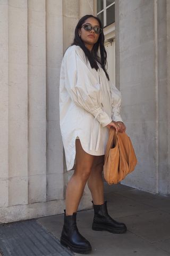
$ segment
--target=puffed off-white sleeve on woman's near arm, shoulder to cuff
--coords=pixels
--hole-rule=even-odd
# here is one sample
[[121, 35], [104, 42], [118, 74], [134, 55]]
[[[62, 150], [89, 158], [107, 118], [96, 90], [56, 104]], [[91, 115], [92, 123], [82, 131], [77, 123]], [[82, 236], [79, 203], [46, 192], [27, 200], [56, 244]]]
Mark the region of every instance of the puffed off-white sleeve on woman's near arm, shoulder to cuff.
[[64, 55], [65, 87], [73, 102], [94, 115], [104, 127], [112, 122], [112, 118], [101, 108], [100, 84], [88, 68], [83, 51], [71, 47]]

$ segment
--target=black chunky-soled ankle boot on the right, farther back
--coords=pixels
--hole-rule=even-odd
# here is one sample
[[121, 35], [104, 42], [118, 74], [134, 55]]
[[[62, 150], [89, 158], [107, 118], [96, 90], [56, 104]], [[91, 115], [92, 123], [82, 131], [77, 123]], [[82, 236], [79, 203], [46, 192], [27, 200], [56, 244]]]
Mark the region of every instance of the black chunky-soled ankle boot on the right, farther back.
[[[92, 201], [93, 203], [93, 201]], [[92, 229], [96, 231], [106, 230], [111, 233], [125, 233], [127, 230], [124, 223], [117, 222], [109, 216], [107, 212], [107, 201], [101, 205], [94, 205], [94, 221], [92, 223]]]

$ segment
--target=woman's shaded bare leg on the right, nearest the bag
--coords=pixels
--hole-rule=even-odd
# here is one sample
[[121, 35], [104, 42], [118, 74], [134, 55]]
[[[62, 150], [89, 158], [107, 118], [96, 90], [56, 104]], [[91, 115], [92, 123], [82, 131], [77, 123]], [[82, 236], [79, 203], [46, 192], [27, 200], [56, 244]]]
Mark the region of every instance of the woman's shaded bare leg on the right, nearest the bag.
[[104, 183], [103, 183], [104, 155], [95, 156], [94, 163], [88, 179], [88, 187], [91, 192], [94, 204], [104, 204]]

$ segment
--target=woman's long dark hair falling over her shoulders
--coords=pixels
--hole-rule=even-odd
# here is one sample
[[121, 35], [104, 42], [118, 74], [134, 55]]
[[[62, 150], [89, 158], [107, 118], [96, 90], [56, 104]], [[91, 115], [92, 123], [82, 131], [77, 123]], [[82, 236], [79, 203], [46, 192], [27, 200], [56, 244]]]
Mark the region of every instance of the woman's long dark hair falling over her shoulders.
[[[95, 18], [99, 22], [100, 28], [103, 29], [102, 23], [99, 18], [95, 17], [94, 15], [83, 16], [79, 20], [78, 25], [75, 28], [74, 41], [73, 41], [72, 45], [79, 45], [81, 47], [84, 54], [86, 55], [86, 58], [90, 62], [91, 68], [95, 68], [96, 70], [98, 70], [99, 67], [97, 65], [97, 62], [99, 62], [101, 67], [105, 71], [107, 79], [109, 80], [109, 76], [108, 76], [106, 68], [105, 68], [107, 65], [107, 53], [106, 53], [105, 46], [104, 46], [105, 36], [104, 36], [103, 30], [102, 30], [101, 34], [99, 35], [97, 43], [94, 44], [94, 46], [92, 47], [91, 52], [87, 49], [87, 47], [83, 43], [81, 37], [79, 36], [79, 29], [81, 29], [84, 21], [86, 21], [88, 18]], [[98, 55], [99, 49], [100, 49], [100, 56]]]

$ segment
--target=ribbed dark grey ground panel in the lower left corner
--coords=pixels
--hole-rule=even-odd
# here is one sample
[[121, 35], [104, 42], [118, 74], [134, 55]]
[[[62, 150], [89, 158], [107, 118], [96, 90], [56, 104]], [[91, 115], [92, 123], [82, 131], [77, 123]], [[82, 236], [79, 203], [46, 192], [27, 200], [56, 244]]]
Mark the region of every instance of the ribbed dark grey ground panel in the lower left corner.
[[72, 256], [36, 219], [0, 225], [0, 252], [4, 256]]

